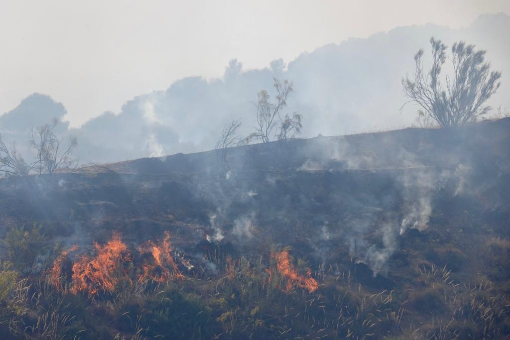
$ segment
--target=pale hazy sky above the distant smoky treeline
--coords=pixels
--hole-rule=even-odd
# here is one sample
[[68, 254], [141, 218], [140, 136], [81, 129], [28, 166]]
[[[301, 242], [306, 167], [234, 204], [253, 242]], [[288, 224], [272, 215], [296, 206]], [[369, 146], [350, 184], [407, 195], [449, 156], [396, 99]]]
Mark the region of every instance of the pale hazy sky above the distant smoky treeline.
[[72, 126], [190, 75], [220, 77], [399, 25], [468, 25], [510, 14], [509, 0], [0, 0], [0, 113], [33, 92], [67, 108]]

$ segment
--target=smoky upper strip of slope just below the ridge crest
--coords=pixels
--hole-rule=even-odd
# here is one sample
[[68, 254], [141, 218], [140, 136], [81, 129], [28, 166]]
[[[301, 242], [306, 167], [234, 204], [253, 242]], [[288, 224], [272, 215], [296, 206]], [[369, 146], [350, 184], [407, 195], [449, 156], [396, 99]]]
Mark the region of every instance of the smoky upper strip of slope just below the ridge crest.
[[[401, 130], [296, 139], [232, 148], [233, 170], [384, 170], [413, 167], [455, 168], [498, 160], [494, 171], [510, 169], [510, 118], [456, 130]], [[121, 173], [218, 171], [219, 151], [175, 154], [111, 164]]]

